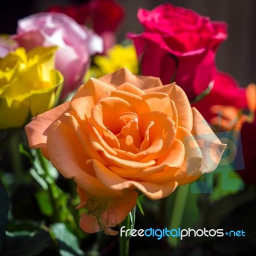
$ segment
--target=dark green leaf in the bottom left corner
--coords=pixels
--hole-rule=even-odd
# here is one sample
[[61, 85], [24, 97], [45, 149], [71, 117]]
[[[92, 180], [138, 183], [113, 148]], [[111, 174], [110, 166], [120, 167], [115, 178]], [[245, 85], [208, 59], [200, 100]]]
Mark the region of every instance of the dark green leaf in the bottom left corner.
[[6, 232], [4, 239], [4, 256], [34, 256], [38, 255], [49, 244], [49, 232], [40, 229], [29, 233], [27, 231]]

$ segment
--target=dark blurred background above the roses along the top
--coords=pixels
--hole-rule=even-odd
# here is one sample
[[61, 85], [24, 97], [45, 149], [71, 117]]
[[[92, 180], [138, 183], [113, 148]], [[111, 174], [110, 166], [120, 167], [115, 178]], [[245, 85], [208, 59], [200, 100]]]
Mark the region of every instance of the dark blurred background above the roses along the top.
[[[79, 0], [4, 0], [0, 8], [0, 33], [15, 33], [17, 20], [36, 12], [44, 12], [53, 4], [79, 4]], [[228, 23], [228, 39], [217, 55], [218, 69], [234, 76], [241, 86], [256, 82], [256, 1], [255, 0], [116, 0], [125, 9], [125, 19], [118, 31], [118, 41], [125, 33], [140, 33], [142, 26], [136, 18], [138, 8], [148, 10], [162, 3], [191, 8], [200, 15]]]

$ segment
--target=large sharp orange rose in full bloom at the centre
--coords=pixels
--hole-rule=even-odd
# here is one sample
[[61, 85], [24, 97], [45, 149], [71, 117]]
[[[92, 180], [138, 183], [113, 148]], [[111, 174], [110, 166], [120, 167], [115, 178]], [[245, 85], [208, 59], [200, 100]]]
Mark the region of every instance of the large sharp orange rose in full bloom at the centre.
[[157, 77], [118, 70], [82, 85], [70, 102], [26, 126], [29, 145], [41, 148], [66, 178], [77, 183], [87, 211], [85, 232], [115, 227], [135, 207], [212, 172], [225, 145], [184, 91]]

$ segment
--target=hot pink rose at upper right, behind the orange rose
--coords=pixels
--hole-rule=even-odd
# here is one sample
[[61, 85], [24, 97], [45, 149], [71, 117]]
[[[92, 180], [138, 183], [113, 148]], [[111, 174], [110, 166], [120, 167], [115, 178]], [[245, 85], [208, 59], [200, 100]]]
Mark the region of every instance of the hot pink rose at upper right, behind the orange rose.
[[226, 24], [172, 4], [151, 12], [140, 9], [138, 19], [145, 32], [128, 37], [134, 40], [143, 75], [158, 76], [164, 84], [174, 80], [189, 99], [202, 93], [216, 74], [214, 58], [227, 38]]

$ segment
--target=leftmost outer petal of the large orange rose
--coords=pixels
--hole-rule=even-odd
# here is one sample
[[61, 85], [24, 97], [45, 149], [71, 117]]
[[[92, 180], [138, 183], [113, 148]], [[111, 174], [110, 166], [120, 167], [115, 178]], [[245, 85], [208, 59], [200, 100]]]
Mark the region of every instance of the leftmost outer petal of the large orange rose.
[[63, 113], [68, 111], [68, 106], [69, 102], [65, 102], [56, 108], [32, 118], [31, 122], [25, 127], [29, 147], [41, 148], [42, 154], [49, 158], [46, 148], [49, 127], [51, 127], [51, 125], [56, 122]]

